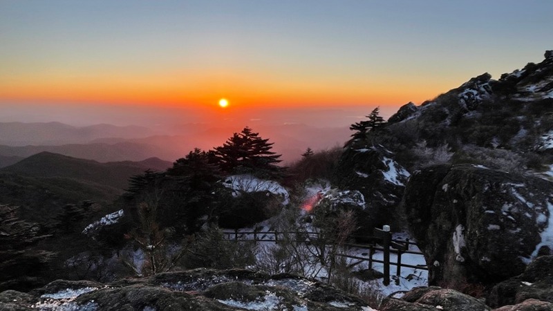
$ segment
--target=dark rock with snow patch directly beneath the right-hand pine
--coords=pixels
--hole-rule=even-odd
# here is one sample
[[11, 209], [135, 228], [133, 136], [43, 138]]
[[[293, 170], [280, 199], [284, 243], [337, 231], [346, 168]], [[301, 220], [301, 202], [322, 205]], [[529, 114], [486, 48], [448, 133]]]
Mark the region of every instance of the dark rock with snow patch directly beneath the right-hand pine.
[[336, 175], [341, 189], [357, 190], [364, 196], [366, 209], [358, 218], [362, 232], [390, 225], [409, 178], [409, 172], [395, 162], [391, 151], [380, 145], [348, 147]]

